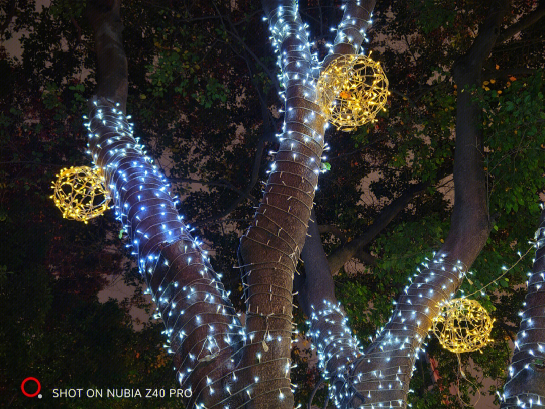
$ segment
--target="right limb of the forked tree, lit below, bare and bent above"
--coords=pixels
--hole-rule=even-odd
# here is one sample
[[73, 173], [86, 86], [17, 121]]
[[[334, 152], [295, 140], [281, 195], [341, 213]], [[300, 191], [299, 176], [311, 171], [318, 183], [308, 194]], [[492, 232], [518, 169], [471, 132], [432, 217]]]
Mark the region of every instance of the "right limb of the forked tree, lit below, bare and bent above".
[[[451, 228], [436, 257], [419, 270], [395, 302], [389, 322], [364, 351], [364, 358], [350, 366], [353, 406], [365, 403], [406, 407], [409, 382], [421, 345], [441, 303], [453, 297], [465, 272], [485, 245], [491, 230], [482, 164], [482, 112], [469, 89], [481, 84], [482, 66], [499, 35], [507, 1], [494, 2], [468, 52], [453, 66], [458, 86], [455, 162], [455, 203]], [[380, 374], [380, 376], [379, 376]]]

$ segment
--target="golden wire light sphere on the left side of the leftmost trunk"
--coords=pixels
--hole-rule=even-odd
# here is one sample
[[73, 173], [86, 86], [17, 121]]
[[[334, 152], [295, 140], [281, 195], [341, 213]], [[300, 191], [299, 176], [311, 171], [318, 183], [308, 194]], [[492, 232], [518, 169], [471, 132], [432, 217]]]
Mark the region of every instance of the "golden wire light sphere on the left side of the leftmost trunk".
[[54, 180], [51, 196], [63, 217], [87, 222], [108, 210], [110, 193], [105, 187], [100, 168], [88, 166], [70, 167], [60, 170]]

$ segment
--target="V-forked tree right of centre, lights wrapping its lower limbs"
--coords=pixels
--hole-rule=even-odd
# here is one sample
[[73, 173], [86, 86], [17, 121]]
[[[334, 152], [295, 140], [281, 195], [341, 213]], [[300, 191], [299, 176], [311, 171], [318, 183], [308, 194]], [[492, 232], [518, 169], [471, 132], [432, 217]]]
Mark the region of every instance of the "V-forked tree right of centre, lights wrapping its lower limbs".
[[[312, 309], [310, 334], [317, 341], [319, 364], [330, 379], [330, 398], [337, 407], [407, 406], [414, 362], [432, 318], [441, 303], [456, 294], [467, 268], [486, 243], [492, 224], [484, 188], [481, 112], [471, 100], [470, 88], [481, 84], [482, 65], [495, 44], [506, 9], [505, 1], [494, 3], [474, 44], [453, 67], [458, 89], [464, 89], [457, 101], [455, 205], [449, 235], [437, 257], [405, 288], [391, 319], [365, 351], [350, 335], [344, 314], [330, 291], [314, 290], [317, 297], [324, 297], [318, 306], [302, 302], [307, 310]], [[323, 251], [321, 254], [323, 259]], [[320, 253], [313, 257], [320, 257]], [[312, 261], [319, 268], [318, 261]]]

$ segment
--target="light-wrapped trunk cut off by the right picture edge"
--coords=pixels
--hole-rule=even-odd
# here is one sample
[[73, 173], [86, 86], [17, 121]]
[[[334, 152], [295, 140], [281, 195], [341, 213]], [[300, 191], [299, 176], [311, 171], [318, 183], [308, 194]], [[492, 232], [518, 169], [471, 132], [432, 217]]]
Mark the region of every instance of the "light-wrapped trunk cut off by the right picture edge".
[[514, 346], [501, 408], [545, 405], [545, 210], [536, 232], [534, 267]]

